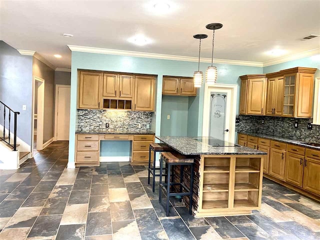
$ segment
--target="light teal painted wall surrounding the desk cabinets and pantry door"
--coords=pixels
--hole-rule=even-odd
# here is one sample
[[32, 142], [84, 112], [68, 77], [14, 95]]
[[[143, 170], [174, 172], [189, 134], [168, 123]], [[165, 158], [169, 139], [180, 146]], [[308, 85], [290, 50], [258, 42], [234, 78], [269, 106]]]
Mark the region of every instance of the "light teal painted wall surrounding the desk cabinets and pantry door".
[[[209, 63], [200, 63], [200, 70], [205, 72]], [[218, 83], [238, 84], [239, 76], [244, 74], [262, 73], [262, 67], [214, 64], [218, 68]], [[145, 73], [157, 75], [156, 80], [156, 108], [152, 117], [152, 128], [159, 135], [161, 128], [161, 90], [162, 76], [193, 76], [197, 69], [197, 62], [165, 60], [156, 58], [132, 57], [121, 55], [108, 55], [87, 52], [71, 52], [71, 103], [70, 103], [70, 137], [69, 137], [69, 162], [74, 162], [75, 121], [76, 121], [76, 94], [77, 94], [77, 69], [106, 70], [132, 73]], [[239, 89], [238, 89], [239, 91]], [[187, 134], [201, 135], [203, 115], [204, 85], [198, 89], [196, 97], [188, 100]], [[237, 95], [239, 101], [239, 93]], [[238, 112], [238, 106], [237, 106]]]

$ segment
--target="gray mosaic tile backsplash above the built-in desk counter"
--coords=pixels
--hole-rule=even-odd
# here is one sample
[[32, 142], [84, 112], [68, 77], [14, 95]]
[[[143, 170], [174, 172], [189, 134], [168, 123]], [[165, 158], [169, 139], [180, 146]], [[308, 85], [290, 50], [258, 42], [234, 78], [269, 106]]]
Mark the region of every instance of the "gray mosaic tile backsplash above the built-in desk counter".
[[[77, 109], [76, 114], [76, 127], [80, 131], [145, 131], [151, 128], [152, 112], [148, 111]], [[109, 123], [108, 128], [105, 123]]]

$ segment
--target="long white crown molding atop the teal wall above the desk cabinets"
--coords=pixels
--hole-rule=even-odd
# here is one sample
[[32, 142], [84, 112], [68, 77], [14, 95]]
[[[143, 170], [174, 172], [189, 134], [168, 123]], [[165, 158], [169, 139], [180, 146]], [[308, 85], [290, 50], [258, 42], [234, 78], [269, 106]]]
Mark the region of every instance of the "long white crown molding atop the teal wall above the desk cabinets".
[[[148, 52], [139, 52], [139, 51], [125, 51], [125, 50], [88, 47], [88, 46], [75, 46], [75, 45], [67, 45], [67, 46], [69, 47], [69, 49], [71, 51], [111, 54], [111, 55], [137, 56], [137, 57], [157, 58], [157, 59], [166, 59], [166, 60], [195, 61], [195, 62], [198, 61], [198, 58], [193, 57], [193, 56], [178, 56], [178, 55], [148, 53]], [[201, 62], [211, 62], [211, 58], [201, 57], [200, 61]], [[256, 61], [239, 61], [239, 60], [228, 60], [228, 59], [214, 58], [214, 63], [262, 67], [262, 62], [256, 62]]]

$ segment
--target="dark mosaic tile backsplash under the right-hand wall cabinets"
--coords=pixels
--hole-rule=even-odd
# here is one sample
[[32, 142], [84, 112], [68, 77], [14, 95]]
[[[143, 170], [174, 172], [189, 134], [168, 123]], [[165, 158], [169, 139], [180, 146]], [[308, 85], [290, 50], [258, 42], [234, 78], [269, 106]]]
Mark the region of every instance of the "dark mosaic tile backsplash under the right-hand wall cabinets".
[[[307, 129], [307, 123], [312, 122], [311, 118], [251, 115], [238, 115], [237, 117], [240, 122], [235, 124], [236, 131], [320, 142], [320, 125], [312, 125], [312, 129]], [[294, 128], [295, 120], [298, 122], [297, 128]]]

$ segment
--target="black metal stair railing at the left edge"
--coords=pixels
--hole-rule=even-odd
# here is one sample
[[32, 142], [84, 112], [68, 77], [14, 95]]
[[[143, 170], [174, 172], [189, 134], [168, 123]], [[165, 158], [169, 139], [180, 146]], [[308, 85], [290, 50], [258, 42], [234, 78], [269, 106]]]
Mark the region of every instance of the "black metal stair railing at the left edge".
[[[13, 111], [10, 107], [8, 107], [6, 104], [4, 104], [2, 101], [0, 101], [0, 113], [1, 109], [3, 109], [3, 134], [0, 136], [0, 140], [4, 141], [5, 143], [9, 144], [12, 148], [13, 151], [16, 151], [16, 118], [17, 115], [20, 114], [18, 111]], [[11, 132], [10, 132], [10, 127], [11, 127], [11, 112], [14, 116], [14, 125], [13, 125], [13, 144], [10, 143], [11, 140]], [[5, 120], [6, 120], [6, 115], [7, 115], [7, 121], [8, 121], [8, 135], [7, 137], [5, 136]]]

